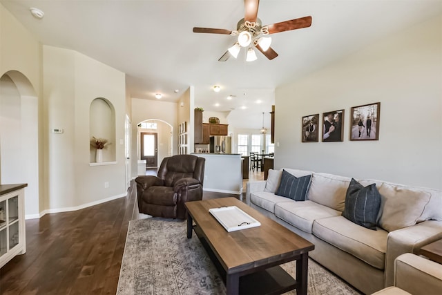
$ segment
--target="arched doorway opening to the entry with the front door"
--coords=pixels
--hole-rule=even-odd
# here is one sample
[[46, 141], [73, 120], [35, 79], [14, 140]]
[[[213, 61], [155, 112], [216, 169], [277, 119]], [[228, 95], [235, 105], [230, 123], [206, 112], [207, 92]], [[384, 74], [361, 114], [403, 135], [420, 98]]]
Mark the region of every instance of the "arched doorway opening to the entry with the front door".
[[163, 158], [173, 153], [173, 127], [158, 119], [137, 124], [137, 159], [146, 160], [146, 168], [160, 166]]

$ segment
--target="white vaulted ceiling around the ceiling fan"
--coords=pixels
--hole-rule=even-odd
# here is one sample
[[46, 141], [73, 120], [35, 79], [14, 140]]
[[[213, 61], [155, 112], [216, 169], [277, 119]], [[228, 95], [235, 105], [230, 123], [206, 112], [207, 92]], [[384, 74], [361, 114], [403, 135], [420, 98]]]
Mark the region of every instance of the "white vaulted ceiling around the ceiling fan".
[[[242, 0], [0, 2], [42, 44], [77, 50], [126, 73], [132, 97], [155, 99], [162, 93], [164, 101], [175, 102], [192, 85], [195, 106], [235, 109], [229, 123], [243, 128], [262, 125], [262, 112], [271, 111], [277, 86], [442, 11], [441, 0], [262, 0], [258, 17], [263, 25], [311, 15], [311, 27], [271, 35], [279, 54], [272, 61], [257, 51], [258, 60], [246, 62], [242, 49], [238, 59], [220, 62], [236, 37], [195, 34], [192, 28], [236, 29], [244, 17]], [[43, 10], [44, 19], [32, 17], [30, 7]], [[212, 91], [215, 84], [220, 93]], [[236, 97], [227, 100], [230, 94]]]

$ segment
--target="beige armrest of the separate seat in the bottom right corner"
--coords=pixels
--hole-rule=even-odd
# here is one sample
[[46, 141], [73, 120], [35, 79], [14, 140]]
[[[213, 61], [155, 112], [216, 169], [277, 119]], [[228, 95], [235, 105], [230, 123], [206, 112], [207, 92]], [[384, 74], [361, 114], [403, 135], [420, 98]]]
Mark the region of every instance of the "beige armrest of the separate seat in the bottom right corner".
[[414, 295], [441, 294], [442, 265], [414, 254], [395, 260], [394, 285]]

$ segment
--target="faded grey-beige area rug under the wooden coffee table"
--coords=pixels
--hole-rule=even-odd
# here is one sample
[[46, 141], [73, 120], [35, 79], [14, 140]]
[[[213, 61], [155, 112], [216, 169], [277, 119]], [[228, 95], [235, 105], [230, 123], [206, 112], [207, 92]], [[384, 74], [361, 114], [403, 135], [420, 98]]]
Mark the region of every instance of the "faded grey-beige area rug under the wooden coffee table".
[[[282, 268], [295, 276], [295, 262]], [[186, 237], [185, 221], [148, 218], [129, 224], [117, 294], [226, 294], [226, 288], [200, 240]], [[308, 294], [360, 293], [309, 259]]]

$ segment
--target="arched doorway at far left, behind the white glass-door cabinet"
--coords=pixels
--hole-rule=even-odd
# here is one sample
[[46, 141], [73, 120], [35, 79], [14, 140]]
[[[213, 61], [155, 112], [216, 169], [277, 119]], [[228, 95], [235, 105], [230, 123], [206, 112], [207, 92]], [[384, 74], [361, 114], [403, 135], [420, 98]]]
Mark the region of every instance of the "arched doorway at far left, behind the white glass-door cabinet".
[[26, 218], [39, 216], [38, 97], [29, 79], [10, 70], [0, 77], [0, 183], [27, 183]]

